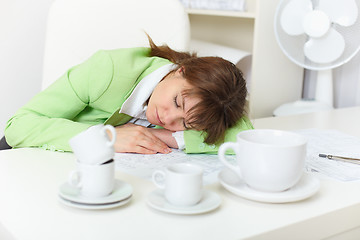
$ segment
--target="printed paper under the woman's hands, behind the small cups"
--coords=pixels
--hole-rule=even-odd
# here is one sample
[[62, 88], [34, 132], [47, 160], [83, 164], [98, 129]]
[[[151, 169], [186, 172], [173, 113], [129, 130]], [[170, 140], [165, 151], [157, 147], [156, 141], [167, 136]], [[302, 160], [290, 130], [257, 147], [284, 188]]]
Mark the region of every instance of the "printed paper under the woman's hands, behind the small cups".
[[[234, 156], [229, 156], [234, 161]], [[173, 163], [190, 162], [200, 165], [204, 169], [204, 184], [211, 184], [217, 181], [217, 175], [223, 168], [217, 155], [207, 154], [185, 154], [183, 151], [173, 149], [169, 154], [115, 154], [116, 169], [125, 173], [151, 179], [154, 170], [163, 170]]]

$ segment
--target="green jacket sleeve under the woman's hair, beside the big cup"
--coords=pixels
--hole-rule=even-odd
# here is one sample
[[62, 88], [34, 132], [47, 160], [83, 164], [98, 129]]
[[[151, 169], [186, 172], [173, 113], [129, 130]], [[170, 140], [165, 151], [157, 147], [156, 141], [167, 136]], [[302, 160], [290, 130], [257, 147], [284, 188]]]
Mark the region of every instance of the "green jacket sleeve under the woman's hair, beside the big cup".
[[[241, 118], [234, 127], [226, 131], [224, 142], [236, 142], [236, 135], [241, 131], [249, 129], [254, 129], [250, 120], [247, 117]], [[206, 144], [204, 143], [204, 132], [195, 130], [185, 130], [184, 140], [186, 153], [217, 154], [220, 145], [223, 143], [220, 142], [213, 145]], [[230, 151], [229, 153], [234, 154]]]

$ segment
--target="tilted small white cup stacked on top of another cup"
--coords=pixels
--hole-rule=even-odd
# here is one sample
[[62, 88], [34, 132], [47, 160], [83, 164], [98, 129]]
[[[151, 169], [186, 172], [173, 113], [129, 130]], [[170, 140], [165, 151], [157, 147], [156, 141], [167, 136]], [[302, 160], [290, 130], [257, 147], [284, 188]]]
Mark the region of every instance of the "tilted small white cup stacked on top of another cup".
[[[111, 140], [107, 130], [111, 133]], [[78, 161], [101, 164], [114, 157], [115, 128], [111, 125], [95, 125], [70, 139], [69, 144]]]

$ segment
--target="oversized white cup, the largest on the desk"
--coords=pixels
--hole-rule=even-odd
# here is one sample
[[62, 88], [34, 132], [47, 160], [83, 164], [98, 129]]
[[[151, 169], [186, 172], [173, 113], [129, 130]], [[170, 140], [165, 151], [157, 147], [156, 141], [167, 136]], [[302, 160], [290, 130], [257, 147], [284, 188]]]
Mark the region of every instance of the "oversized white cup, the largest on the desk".
[[[219, 158], [249, 187], [280, 192], [293, 187], [301, 178], [306, 157], [306, 139], [296, 133], [273, 130], [246, 130], [237, 134], [237, 142], [219, 148]], [[236, 164], [229, 163], [228, 149], [236, 154]]]

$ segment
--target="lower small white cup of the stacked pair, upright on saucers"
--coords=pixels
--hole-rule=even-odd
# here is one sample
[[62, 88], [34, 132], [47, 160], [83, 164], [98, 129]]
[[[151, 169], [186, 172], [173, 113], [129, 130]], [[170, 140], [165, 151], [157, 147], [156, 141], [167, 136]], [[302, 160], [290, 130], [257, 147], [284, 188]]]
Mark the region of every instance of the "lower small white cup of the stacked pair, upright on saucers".
[[111, 159], [100, 165], [77, 162], [77, 170], [70, 173], [68, 183], [79, 189], [82, 196], [101, 198], [114, 190], [115, 167]]

